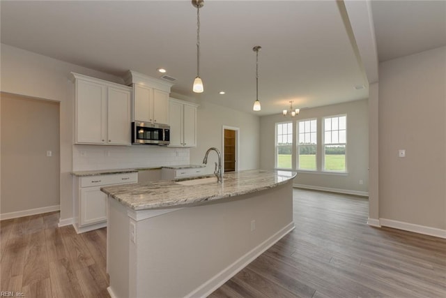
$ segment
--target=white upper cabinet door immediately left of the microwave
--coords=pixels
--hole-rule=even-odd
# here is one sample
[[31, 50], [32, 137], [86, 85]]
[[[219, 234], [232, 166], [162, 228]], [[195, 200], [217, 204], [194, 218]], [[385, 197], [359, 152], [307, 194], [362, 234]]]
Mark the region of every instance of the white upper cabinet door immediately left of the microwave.
[[131, 134], [130, 90], [109, 87], [108, 143], [129, 144]]

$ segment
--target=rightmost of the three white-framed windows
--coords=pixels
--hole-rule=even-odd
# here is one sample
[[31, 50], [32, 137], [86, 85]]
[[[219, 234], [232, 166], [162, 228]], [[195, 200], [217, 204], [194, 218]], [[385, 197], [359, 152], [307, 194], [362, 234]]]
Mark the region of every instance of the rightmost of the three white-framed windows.
[[347, 116], [324, 118], [323, 170], [346, 172]]

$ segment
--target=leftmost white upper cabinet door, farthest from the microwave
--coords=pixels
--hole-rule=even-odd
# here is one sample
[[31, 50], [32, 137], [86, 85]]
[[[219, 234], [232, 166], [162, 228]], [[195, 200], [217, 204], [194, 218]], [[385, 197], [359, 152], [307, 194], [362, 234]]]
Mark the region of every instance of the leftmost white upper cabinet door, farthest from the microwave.
[[76, 143], [105, 144], [107, 129], [107, 87], [76, 80]]

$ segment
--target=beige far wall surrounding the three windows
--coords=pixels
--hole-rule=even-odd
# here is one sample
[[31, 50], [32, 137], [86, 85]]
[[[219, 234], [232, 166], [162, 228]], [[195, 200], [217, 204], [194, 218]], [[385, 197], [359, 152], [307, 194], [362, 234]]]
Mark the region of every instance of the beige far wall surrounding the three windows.
[[[321, 129], [321, 118], [337, 114], [347, 114], [347, 167], [348, 174], [327, 174], [323, 172], [299, 172], [294, 179], [295, 184], [316, 189], [345, 191], [367, 195], [368, 191], [368, 103], [367, 100], [355, 100], [337, 105], [327, 105], [301, 110], [297, 118], [318, 119], [318, 130]], [[271, 169], [275, 165], [275, 123], [290, 120], [282, 114], [261, 117], [261, 163], [263, 169]], [[295, 131], [293, 132], [295, 140]], [[318, 142], [321, 138], [318, 137]], [[294, 142], [295, 144], [295, 142]], [[293, 147], [295, 151], [295, 147]], [[317, 161], [321, 163], [321, 150], [318, 150]], [[293, 158], [295, 165], [295, 158]], [[362, 180], [363, 184], [359, 181]]]

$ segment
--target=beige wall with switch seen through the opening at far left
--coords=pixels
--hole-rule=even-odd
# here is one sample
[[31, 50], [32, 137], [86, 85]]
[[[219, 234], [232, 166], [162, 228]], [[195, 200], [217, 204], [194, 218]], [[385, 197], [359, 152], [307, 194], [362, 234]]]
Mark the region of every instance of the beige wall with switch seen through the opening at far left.
[[1, 94], [0, 105], [0, 213], [59, 209], [59, 103]]

